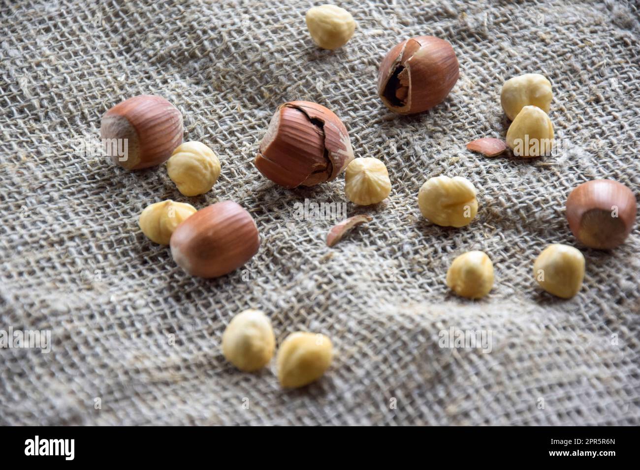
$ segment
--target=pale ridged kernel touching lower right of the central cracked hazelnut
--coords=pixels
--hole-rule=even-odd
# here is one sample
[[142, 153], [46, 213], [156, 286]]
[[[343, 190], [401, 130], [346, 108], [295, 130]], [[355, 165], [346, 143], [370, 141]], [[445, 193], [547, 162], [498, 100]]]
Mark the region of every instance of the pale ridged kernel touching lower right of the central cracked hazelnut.
[[355, 159], [344, 172], [344, 192], [360, 206], [379, 203], [391, 192], [387, 167], [371, 157]]

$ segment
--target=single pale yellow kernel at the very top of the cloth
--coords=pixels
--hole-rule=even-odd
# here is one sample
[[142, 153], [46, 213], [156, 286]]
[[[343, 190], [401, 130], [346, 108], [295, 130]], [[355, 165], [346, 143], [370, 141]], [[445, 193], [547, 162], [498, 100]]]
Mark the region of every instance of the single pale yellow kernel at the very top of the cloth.
[[305, 21], [311, 38], [323, 49], [337, 49], [345, 45], [356, 29], [351, 13], [335, 5], [310, 8]]

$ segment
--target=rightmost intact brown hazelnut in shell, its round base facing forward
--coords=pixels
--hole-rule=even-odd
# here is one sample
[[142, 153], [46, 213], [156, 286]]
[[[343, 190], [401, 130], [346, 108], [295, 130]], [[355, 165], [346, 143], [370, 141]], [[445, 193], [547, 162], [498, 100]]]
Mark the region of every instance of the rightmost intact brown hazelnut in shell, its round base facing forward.
[[614, 180], [593, 180], [577, 186], [566, 200], [569, 228], [591, 248], [622, 244], [636, 221], [636, 196]]

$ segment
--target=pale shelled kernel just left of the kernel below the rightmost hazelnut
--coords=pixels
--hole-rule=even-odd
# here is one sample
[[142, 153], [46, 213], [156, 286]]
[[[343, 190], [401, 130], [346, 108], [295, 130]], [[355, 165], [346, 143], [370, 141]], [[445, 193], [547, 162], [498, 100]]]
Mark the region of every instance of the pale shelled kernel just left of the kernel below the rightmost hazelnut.
[[493, 287], [493, 263], [484, 251], [467, 251], [447, 270], [447, 286], [461, 297], [480, 299]]

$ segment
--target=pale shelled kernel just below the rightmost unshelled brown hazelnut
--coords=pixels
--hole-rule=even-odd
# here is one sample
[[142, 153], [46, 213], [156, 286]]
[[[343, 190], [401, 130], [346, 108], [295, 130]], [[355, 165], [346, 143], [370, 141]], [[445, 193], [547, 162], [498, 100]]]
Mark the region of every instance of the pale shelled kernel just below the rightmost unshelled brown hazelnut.
[[548, 293], [570, 299], [582, 288], [584, 256], [572, 246], [549, 245], [536, 258], [533, 275]]

